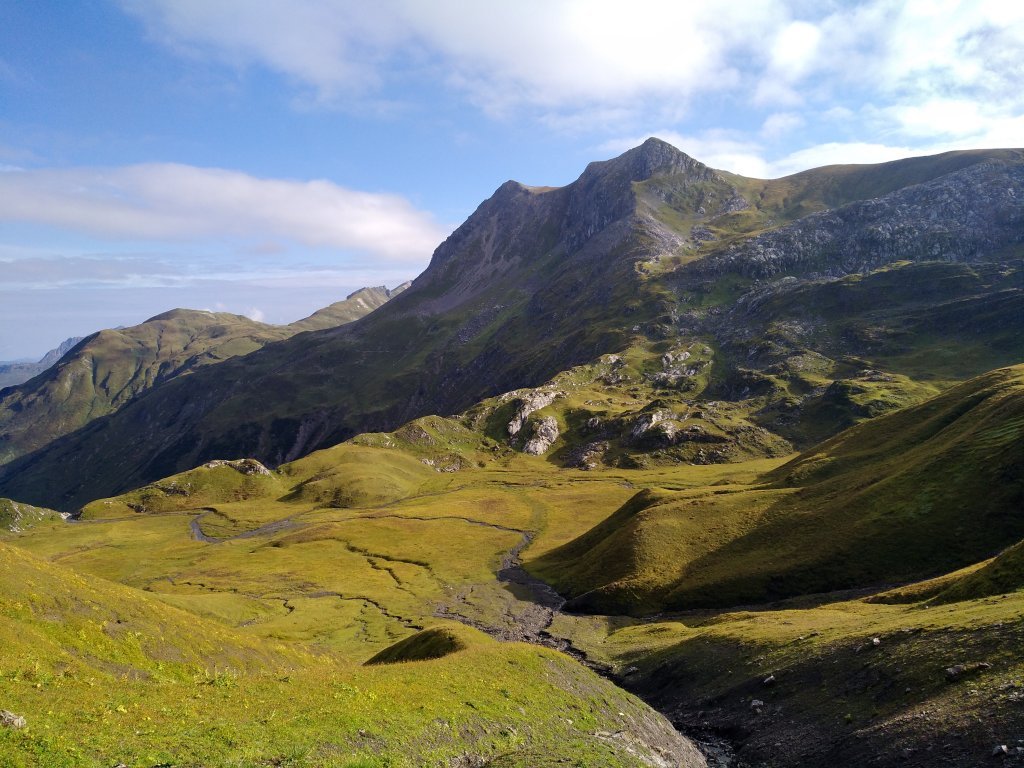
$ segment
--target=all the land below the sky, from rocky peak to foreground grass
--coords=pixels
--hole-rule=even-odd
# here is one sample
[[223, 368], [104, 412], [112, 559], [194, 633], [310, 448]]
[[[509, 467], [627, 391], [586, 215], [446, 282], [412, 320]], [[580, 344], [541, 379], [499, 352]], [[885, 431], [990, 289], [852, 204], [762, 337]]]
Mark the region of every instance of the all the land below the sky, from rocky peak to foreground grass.
[[1024, 765], [1022, 364], [1021, 150], [649, 139], [93, 334], [0, 391], [0, 764]]

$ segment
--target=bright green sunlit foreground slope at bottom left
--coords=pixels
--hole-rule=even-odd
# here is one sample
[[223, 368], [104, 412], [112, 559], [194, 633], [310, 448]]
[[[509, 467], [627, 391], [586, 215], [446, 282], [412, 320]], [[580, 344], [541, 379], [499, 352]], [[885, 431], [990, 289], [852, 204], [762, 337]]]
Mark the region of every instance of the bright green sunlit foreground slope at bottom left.
[[432, 660], [399, 649], [353, 666], [0, 544], [0, 691], [27, 722], [0, 729], [0, 762], [702, 765], [664, 718], [571, 660], [451, 632], [459, 647]]

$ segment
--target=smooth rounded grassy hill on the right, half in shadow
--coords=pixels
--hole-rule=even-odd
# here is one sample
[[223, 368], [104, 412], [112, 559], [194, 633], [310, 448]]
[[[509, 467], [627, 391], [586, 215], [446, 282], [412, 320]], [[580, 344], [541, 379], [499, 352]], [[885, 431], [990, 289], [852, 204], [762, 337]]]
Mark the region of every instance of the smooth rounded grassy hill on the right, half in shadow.
[[646, 494], [530, 567], [598, 612], [726, 606], [922, 578], [1024, 536], [1024, 367], [880, 417], [760, 487]]

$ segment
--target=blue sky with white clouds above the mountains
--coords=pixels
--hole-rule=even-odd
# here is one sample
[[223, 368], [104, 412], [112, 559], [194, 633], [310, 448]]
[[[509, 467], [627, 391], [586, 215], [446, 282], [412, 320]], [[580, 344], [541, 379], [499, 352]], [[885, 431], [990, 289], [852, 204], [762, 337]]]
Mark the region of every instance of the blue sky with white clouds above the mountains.
[[0, 360], [415, 278], [656, 135], [777, 177], [1024, 145], [1009, 0], [0, 3]]

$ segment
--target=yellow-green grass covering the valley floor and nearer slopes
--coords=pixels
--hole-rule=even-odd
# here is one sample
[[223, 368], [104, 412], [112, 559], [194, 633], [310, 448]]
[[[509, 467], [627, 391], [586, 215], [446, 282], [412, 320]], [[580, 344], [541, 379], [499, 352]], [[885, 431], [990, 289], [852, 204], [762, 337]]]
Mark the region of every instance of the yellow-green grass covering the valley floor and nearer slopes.
[[[623, 365], [606, 359], [553, 382], [564, 396], [539, 415], [554, 415], [570, 437], [552, 453], [570, 449], [580, 411], [630, 423], [652, 392], [642, 376], [664, 353], [632, 348]], [[600, 390], [611, 371], [626, 380]], [[721, 701], [717, 717], [732, 727], [760, 697], [839, 740], [877, 724], [896, 728], [923, 707], [937, 708], [950, 728], [957, 712], [1011, 722], [1009, 703], [971, 709], [935, 676], [936, 665], [992, 664], [996, 672], [971, 674], [1005, 698], [999, 686], [1018, 674], [1020, 550], [987, 561], [985, 548], [1022, 538], [1015, 518], [999, 514], [1017, 487], [1008, 446], [1020, 439], [1021, 379], [1020, 368], [993, 372], [795, 459], [632, 469], [566, 469], [515, 452], [496, 439], [508, 418], [498, 399], [362, 435], [269, 474], [201, 467], [88, 505], [78, 522], [41, 521], [9, 537], [17, 550], [2, 550], [22, 559], [2, 571], [12, 652], [0, 679], [5, 707], [33, 730], [0, 734], [0, 754], [15, 765], [126, 757], [406, 765], [464, 754], [496, 765], [543, 765], [543, 755], [633, 764], [594, 734], [620, 729], [620, 712], [635, 712], [628, 728], [648, 727], [641, 721], [652, 716], [634, 699], [564, 656], [494, 643], [440, 617], [514, 629], [521, 596], [495, 573], [525, 537], [527, 565], [575, 596], [570, 607], [597, 612], [560, 615], [549, 632], [623, 674], [636, 668], [625, 679], [655, 701], [680, 692]], [[964, 515], [975, 514], [968, 502], [984, 484], [990, 524], [965, 532], [912, 506], [879, 513], [874, 505], [935, 493], [929, 483], [947, 482], [950, 466], [978, 484], [953, 486], [963, 507], [942, 485], [944, 514], [975, 519]], [[992, 495], [993, 478], [1010, 496]], [[197, 528], [210, 541], [198, 541]], [[904, 540], [878, 543], [894, 530]], [[946, 530], [955, 541], [943, 549], [906, 544]], [[907, 565], [939, 573], [957, 564], [970, 567], [870, 601], [837, 595], [655, 620], [607, 615], [735, 605], [837, 582], [864, 586]], [[197, 633], [208, 644], [189, 644]], [[895, 655], [860, 655], [873, 637]], [[144, 638], [162, 639], [151, 647]], [[375, 656], [388, 663], [364, 666]], [[61, 665], [78, 671], [61, 675]], [[768, 674], [780, 681], [770, 692], [759, 681]], [[860, 682], [865, 674], [889, 681], [885, 691], [914, 693], [879, 698], [881, 689]], [[86, 706], [61, 703], [73, 700]], [[252, 724], [254, 710], [263, 720]], [[208, 711], [217, 715], [199, 725]], [[751, 749], [770, 754], [759, 741], [768, 731], [750, 732]], [[72, 743], [69, 733], [85, 737]]]

